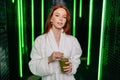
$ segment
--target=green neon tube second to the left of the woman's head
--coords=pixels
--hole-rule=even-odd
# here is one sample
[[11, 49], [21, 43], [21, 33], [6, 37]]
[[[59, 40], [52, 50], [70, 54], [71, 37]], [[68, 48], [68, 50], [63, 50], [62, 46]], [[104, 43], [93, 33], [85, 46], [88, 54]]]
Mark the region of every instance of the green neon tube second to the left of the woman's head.
[[32, 27], [31, 27], [31, 30], [32, 30], [32, 45], [34, 44], [34, 0], [31, 0], [31, 7], [32, 7], [32, 10], [31, 10], [31, 16], [32, 16]]

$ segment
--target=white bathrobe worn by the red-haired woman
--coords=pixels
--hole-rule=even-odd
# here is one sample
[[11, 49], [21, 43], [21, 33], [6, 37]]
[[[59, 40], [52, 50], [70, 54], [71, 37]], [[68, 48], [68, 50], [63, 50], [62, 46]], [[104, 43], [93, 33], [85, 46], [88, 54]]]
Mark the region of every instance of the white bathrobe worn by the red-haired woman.
[[[71, 73], [62, 73], [59, 61], [48, 64], [48, 57], [54, 51], [62, 52], [64, 57], [69, 58], [72, 62]], [[61, 31], [58, 46], [52, 30], [50, 30], [47, 34], [40, 35], [35, 39], [30, 55], [29, 68], [34, 75], [41, 76], [42, 80], [75, 80], [74, 74], [79, 67], [81, 54], [81, 46], [75, 37], [66, 35]]]

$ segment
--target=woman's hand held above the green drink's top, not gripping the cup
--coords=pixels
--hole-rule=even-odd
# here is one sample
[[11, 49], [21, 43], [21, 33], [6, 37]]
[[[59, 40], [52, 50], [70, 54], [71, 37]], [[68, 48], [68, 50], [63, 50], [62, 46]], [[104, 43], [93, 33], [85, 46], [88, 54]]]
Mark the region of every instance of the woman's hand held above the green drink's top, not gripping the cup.
[[60, 60], [63, 57], [63, 53], [61, 52], [53, 52], [51, 56], [48, 57], [48, 63]]

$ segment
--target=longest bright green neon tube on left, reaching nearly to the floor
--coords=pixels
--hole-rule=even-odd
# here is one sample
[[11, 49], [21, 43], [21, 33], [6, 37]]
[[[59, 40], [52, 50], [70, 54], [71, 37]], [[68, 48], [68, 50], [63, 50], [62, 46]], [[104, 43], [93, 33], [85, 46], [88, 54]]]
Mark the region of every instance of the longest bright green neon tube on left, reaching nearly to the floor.
[[20, 10], [20, 0], [18, 0], [18, 3], [17, 3], [17, 7], [18, 7], [18, 47], [19, 47], [19, 75], [20, 77], [23, 76], [22, 74], [22, 42], [21, 42], [21, 10]]

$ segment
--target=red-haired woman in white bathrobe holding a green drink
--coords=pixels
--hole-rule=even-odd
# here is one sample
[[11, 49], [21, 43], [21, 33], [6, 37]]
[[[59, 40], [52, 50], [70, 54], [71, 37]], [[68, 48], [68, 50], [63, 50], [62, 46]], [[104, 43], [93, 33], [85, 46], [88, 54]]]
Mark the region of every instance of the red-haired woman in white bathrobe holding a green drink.
[[[82, 50], [78, 40], [70, 35], [70, 13], [63, 5], [51, 10], [46, 22], [45, 34], [35, 39], [29, 68], [42, 80], [75, 80]], [[68, 66], [61, 72], [59, 60], [69, 58]]]

